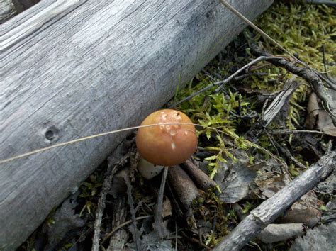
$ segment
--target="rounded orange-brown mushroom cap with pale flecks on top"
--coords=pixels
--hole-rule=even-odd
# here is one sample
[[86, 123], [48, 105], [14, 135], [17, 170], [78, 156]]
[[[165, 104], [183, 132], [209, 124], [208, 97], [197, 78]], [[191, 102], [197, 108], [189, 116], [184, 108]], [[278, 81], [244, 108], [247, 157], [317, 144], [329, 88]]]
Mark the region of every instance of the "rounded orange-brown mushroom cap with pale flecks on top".
[[197, 136], [194, 125], [164, 123], [192, 123], [181, 111], [164, 109], [151, 113], [139, 128], [136, 144], [140, 155], [160, 166], [172, 166], [188, 160], [197, 149]]

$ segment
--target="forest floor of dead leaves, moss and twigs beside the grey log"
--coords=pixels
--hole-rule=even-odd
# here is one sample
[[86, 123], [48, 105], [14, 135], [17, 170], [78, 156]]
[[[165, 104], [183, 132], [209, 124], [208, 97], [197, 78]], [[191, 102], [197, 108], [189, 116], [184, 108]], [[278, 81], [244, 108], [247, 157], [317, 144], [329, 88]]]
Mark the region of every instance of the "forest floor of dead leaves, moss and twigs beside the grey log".
[[[278, 1], [254, 23], [321, 72], [327, 84], [336, 81], [335, 15], [335, 9], [324, 5]], [[137, 172], [132, 134], [19, 250], [87, 250], [97, 231], [101, 250], [208, 250], [254, 208], [327, 152], [335, 151], [336, 128], [329, 106], [323, 105], [316, 88], [304, 77], [271, 60], [238, 71], [260, 52], [300, 67], [249, 27], [184, 88], [177, 89], [165, 106], [183, 111], [200, 125], [193, 162], [218, 186], [199, 189], [192, 203], [184, 203], [174, 184], [167, 182], [159, 220], [164, 233], [153, 228], [162, 177], [148, 182]], [[323, 88], [336, 102], [336, 91]], [[335, 245], [335, 183], [334, 171], [243, 250], [289, 250], [292, 245], [305, 250], [308, 242], [313, 250], [313, 245], [321, 245], [321, 235], [329, 247], [332, 241]], [[99, 212], [101, 221], [97, 222]], [[308, 236], [309, 228], [314, 231]], [[306, 233], [306, 239], [299, 237]]]

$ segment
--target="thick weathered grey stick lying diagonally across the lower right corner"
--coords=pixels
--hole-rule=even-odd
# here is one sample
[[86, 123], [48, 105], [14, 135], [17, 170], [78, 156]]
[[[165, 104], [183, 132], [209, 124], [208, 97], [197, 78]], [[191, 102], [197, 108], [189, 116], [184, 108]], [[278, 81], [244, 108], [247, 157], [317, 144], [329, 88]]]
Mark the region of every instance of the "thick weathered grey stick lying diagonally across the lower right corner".
[[328, 152], [306, 172], [251, 211], [214, 250], [240, 250], [269, 223], [310, 189], [327, 178], [336, 166], [336, 152]]

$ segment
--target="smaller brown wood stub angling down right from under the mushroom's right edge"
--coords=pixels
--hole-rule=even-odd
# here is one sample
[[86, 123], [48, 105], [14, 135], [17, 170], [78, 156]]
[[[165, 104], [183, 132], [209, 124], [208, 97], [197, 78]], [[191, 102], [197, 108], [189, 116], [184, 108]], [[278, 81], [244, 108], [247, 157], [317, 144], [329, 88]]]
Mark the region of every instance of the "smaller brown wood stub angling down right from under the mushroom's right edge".
[[196, 164], [191, 162], [191, 160], [187, 160], [186, 162], [181, 164], [181, 166], [189, 174], [189, 176], [199, 189], [206, 190], [211, 187], [217, 186], [213, 179], [208, 177], [208, 175], [206, 175], [201, 169], [199, 169]]

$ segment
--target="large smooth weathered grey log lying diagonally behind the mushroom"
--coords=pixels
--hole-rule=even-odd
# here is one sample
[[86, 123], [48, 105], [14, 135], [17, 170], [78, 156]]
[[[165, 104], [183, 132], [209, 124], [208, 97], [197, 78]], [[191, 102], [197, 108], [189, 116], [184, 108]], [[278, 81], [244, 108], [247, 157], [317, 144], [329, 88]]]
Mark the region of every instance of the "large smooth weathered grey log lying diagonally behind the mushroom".
[[[254, 18], [272, 0], [231, 0]], [[218, 0], [45, 0], [0, 29], [0, 160], [138, 125], [246, 25]], [[125, 134], [0, 165], [0, 250], [76, 191]]]

